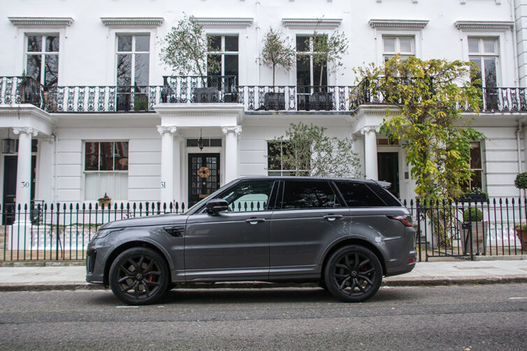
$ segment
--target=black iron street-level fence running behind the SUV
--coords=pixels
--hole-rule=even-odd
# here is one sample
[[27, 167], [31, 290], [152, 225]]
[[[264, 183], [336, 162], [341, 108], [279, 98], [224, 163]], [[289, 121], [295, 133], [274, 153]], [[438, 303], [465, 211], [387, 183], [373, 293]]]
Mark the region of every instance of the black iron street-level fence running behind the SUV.
[[[417, 230], [419, 260], [527, 255], [526, 201], [405, 202]], [[255, 201], [233, 204], [229, 210], [265, 208], [265, 202]], [[0, 207], [0, 260], [84, 260], [89, 240], [104, 223], [184, 211], [185, 204], [161, 202]]]

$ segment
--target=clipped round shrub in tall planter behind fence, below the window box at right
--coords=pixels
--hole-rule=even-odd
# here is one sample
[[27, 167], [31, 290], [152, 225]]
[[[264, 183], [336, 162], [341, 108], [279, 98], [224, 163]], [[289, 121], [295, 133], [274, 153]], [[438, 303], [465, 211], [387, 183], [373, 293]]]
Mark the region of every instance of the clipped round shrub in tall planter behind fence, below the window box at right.
[[[480, 209], [469, 207], [463, 211], [463, 222], [459, 225], [459, 232], [464, 254], [485, 254], [488, 228], [489, 223], [483, 221], [483, 212]], [[472, 242], [470, 241], [471, 237]]]

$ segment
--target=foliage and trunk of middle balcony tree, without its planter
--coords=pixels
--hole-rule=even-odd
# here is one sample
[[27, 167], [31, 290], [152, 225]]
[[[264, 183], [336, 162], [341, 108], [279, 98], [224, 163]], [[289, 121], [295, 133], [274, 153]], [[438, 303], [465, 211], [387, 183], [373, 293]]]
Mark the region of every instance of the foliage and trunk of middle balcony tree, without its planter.
[[263, 64], [273, 68], [273, 85], [275, 85], [276, 66], [289, 70], [294, 64], [295, 50], [287, 44], [281, 31], [270, 28], [263, 37], [261, 56]]

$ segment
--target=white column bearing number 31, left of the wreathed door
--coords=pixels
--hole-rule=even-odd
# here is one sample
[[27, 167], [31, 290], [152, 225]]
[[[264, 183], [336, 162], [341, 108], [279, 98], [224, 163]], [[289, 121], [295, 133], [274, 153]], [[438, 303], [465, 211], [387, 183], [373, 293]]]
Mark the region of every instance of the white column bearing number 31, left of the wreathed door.
[[[178, 127], [176, 126], [157, 126], [157, 131], [161, 134], [161, 184], [159, 184], [159, 188], [161, 188], [161, 206], [163, 203], [168, 206], [170, 202], [174, 201], [174, 134], [177, 130]], [[179, 150], [177, 157], [179, 163]]]

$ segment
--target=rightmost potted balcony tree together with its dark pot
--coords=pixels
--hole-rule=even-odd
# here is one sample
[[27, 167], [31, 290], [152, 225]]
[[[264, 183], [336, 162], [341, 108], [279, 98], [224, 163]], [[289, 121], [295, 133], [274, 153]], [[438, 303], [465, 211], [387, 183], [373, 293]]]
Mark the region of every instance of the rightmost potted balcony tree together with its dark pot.
[[[306, 40], [310, 40], [309, 38]], [[309, 45], [309, 43], [307, 43]], [[311, 110], [331, 110], [333, 93], [322, 87], [324, 74], [335, 72], [343, 66], [342, 57], [347, 54], [348, 40], [345, 33], [334, 31], [331, 36], [315, 32], [312, 36], [313, 65], [320, 67], [318, 90], [309, 97]], [[328, 72], [324, 72], [324, 66]], [[330, 70], [331, 69], [331, 70]], [[315, 89], [317, 90], [317, 89]]]

